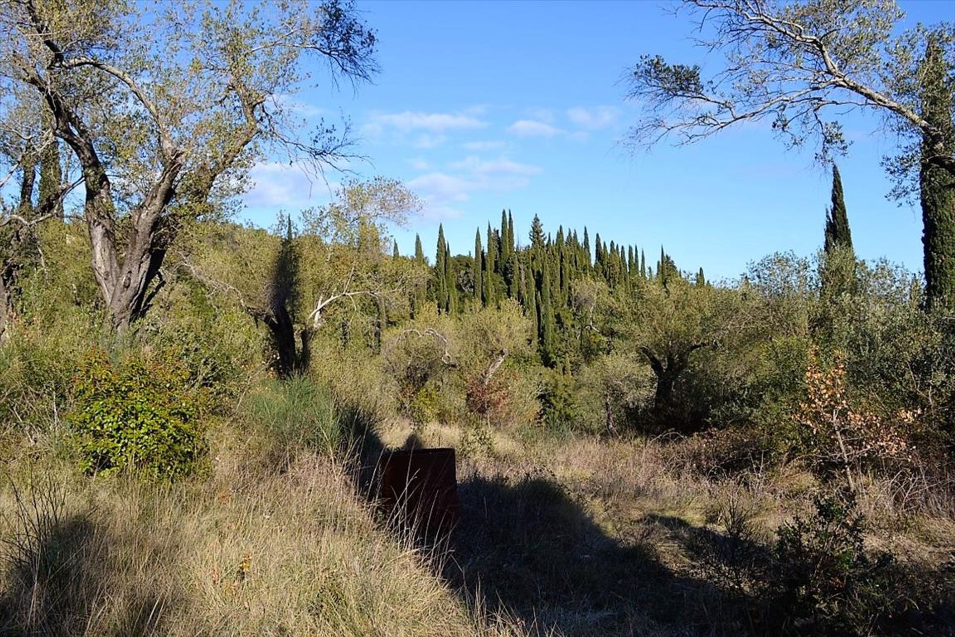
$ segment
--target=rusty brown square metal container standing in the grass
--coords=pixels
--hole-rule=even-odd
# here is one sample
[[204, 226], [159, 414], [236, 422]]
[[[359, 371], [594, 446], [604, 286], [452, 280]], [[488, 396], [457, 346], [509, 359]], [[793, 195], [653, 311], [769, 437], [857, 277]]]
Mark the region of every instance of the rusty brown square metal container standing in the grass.
[[430, 535], [457, 520], [455, 450], [393, 451], [381, 458], [381, 502], [392, 516]]

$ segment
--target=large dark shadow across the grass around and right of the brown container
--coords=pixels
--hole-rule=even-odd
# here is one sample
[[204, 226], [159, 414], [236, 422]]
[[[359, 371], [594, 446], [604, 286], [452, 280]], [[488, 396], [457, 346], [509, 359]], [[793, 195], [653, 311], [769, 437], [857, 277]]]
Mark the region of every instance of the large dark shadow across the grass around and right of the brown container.
[[[388, 450], [367, 423], [350, 433], [359, 436], [350, 444], [360, 450], [356, 487], [373, 499], [377, 462]], [[674, 572], [651, 541], [611, 537], [543, 472], [489, 478], [471, 471], [458, 477], [457, 494], [454, 530], [411, 540], [431, 557], [435, 574], [481, 614], [509, 618], [528, 634], [568, 637], [766, 634], [753, 629], [744, 592]], [[668, 535], [677, 528], [666, 518], [647, 524]], [[689, 528], [681, 530], [687, 538]], [[727, 542], [715, 531], [694, 537]]]

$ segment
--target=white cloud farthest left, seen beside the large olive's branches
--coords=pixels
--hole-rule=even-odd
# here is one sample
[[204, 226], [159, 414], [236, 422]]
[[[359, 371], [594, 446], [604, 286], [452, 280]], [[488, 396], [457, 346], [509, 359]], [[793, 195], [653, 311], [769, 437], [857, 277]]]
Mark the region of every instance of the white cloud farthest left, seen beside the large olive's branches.
[[303, 208], [329, 200], [336, 184], [315, 178], [299, 165], [269, 161], [252, 166], [253, 186], [245, 193], [249, 206]]

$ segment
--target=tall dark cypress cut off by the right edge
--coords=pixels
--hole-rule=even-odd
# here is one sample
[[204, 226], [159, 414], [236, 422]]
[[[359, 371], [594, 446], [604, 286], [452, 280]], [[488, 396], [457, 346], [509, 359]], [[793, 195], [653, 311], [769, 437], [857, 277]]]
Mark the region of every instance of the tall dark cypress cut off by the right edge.
[[932, 124], [938, 138], [923, 136], [919, 170], [925, 266], [925, 306], [955, 308], [955, 177], [930, 163], [939, 154], [955, 155], [952, 122], [952, 69], [945, 60], [940, 34], [929, 35], [920, 65], [922, 117]]

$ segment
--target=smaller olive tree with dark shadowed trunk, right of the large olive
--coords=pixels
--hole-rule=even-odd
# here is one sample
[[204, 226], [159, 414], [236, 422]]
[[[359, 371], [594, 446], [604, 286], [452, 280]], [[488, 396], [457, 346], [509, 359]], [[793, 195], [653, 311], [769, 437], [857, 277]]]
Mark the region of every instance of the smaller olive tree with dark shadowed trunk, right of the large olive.
[[333, 308], [346, 306], [351, 321], [372, 315], [380, 348], [389, 308], [424, 285], [425, 268], [387, 249], [389, 225], [419, 207], [400, 181], [347, 180], [328, 205], [303, 211], [298, 228], [286, 214], [273, 232], [210, 224], [182, 246], [178, 265], [265, 325], [277, 372], [304, 372], [311, 339]]

